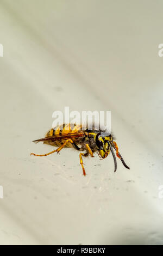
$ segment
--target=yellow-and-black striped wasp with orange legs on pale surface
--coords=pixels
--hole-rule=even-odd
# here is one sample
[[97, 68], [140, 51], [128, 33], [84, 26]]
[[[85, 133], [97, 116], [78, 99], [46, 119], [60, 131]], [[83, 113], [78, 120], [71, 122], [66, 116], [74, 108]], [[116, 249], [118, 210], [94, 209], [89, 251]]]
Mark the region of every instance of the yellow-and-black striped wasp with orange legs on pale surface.
[[[85, 153], [79, 154], [80, 164], [83, 169], [83, 175], [85, 176], [85, 169], [83, 166], [82, 156], [94, 157], [93, 153], [98, 153], [100, 159], [105, 159], [111, 152], [114, 159], [114, 172], [117, 169], [116, 156], [122, 161], [123, 166], [127, 169], [130, 169], [127, 164], [124, 162], [120, 152], [118, 151], [118, 146], [115, 141], [113, 141], [114, 136], [111, 133], [104, 133], [101, 130], [89, 130], [87, 127], [82, 130], [82, 125], [76, 124], [63, 124], [57, 127], [52, 128], [46, 134], [45, 138], [36, 139], [35, 143], [43, 142], [57, 149], [43, 155], [38, 155], [31, 153], [30, 155], [34, 156], [48, 156], [55, 152], [60, 153], [60, 150], [63, 148], [74, 148], [78, 151], [85, 151]], [[115, 153], [116, 156], [115, 156]]]

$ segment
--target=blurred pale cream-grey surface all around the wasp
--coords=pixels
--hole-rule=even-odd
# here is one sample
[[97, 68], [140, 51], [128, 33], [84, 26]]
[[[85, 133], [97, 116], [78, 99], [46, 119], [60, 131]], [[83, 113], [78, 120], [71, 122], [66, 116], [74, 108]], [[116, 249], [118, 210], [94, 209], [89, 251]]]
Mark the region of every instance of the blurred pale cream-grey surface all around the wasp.
[[[163, 244], [162, 1], [1, 0], [0, 243]], [[55, 110], [111, 111], [130, 170], [32, 143]]]

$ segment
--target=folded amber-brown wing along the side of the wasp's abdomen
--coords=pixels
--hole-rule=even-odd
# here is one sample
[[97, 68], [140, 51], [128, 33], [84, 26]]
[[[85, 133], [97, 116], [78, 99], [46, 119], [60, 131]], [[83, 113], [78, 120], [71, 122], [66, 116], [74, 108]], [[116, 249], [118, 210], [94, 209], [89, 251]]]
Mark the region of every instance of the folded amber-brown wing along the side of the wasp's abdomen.
[[46, 141], [46, 142], [54, 142], [54, 141], [58, 141], [59, 139], [73, 139], [73, 138], [79, 138], [79, 137], [84, 137], [84, 133], [83, 132], [72, 132], [72, 133], [68, 133], [68, 134], [61, 134], [61, 135], [54, 135], [51, 137], [45, 137], [45, 138], [41, 138], [41, 139], [36, 139], [35, 143], [38, 143], [40, 141]]

